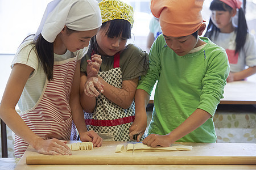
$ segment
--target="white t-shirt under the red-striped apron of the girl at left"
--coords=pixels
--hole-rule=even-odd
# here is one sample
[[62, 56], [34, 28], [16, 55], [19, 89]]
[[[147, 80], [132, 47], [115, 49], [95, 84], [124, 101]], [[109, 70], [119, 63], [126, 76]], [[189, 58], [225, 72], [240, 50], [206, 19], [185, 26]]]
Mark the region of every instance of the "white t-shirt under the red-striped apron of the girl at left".
[[[44, 84], [46, 83], [47, 76], [44, 73], [43, 67], [40, 64], [38, 57], [36, 56], [35, 48], [32, 49], [34, 45], [30, 44], [31, 41], [26, 41], [20, 45], [17, 53], [14, 56], [13, 62], [11, 63], [11, 68], [13, 68], [15, 63], [22, 63], [24, 65], [30, 66], [34, 69], [30, 77], [25, 84], [22, 95], [18, 101], [18, 107], [21, 112], [27, 111], [35, 106], [39, 97], [42, 95]], [[67, 52], [63, 55], [54, 54], [54, 61], [63, 61], [68, 58], [75, 57], [77, 54], [77, 60], [80, 60], [86, 54], [88, 48], [80, 49], [75, 53]], [[28, 56], [29, 54], [29, 56]]]

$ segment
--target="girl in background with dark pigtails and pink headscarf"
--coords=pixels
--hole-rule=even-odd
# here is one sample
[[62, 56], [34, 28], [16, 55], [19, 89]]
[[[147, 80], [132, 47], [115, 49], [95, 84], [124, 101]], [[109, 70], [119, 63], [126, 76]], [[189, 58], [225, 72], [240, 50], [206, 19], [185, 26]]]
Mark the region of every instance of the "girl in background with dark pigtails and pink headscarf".
[[[245, 13], [240, 0], [214, 0], [210, 4], [212, 16], [206, 37], [226, 50], [230, 73], [227, 82], [244, 80], [256, 73], [256, 45], [253, 35], [248, 32]], [[238, 24], [232, 19], [238, 9]], [[249, 66], [247, 69], [246, 66]]]

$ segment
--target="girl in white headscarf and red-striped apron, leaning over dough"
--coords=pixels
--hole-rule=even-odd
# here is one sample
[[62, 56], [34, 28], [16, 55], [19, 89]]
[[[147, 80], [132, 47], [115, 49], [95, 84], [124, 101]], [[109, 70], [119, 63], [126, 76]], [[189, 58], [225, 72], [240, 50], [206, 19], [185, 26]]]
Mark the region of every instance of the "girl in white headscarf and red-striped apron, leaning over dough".
[[41, 154], [71, 155], [65, 143], [77, 138], [72, 119], [81, 141], [101, 146], [102, 139], [87, 131], [79, 102], [80, 61], [100, 26], [96, 1], [52, 1], [36, 35], [20, 45], [0, 105], [2, 120], [15, 133], [16, 158], [28, 145]]

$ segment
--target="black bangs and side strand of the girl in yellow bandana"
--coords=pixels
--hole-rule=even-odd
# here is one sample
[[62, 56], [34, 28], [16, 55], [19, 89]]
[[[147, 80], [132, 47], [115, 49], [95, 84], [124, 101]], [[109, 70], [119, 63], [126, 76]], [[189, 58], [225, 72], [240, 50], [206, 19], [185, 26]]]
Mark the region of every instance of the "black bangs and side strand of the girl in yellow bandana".
[[[122, 37], [125, 39], [131, 38], [131, 24], [127, 20], [123, 19], [114, 19], [109, 20], [108, 22], [102, 23], [101, 29], [106, 28], [109, 25], [106, 35], [108, 37], [119, 37], [122, 33]], [[96, 40], [96, 35], [90, 39], [90, 46], [92, 52], [95, 54], [99, 53], [98, 43]]]

